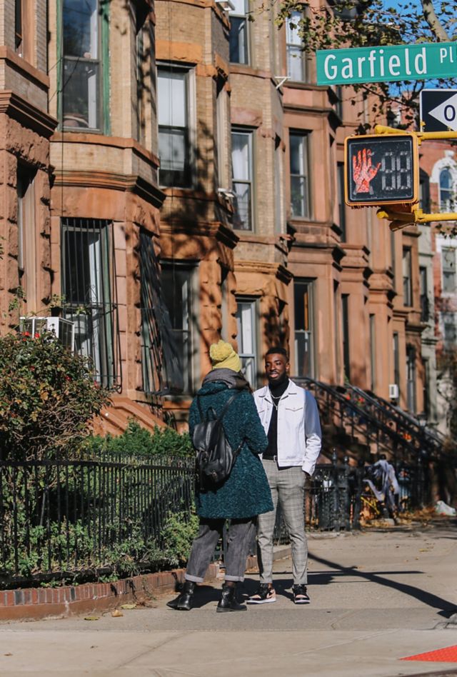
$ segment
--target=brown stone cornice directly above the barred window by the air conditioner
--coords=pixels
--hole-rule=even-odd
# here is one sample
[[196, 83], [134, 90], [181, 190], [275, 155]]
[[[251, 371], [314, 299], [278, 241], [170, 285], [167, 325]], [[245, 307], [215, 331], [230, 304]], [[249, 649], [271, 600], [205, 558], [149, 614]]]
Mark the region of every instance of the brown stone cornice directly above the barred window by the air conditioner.
[[54, 186], [74, 188], [99, 188], [126, 193], [136, 193], [141, 198], [160, 208], [164, 193], [135, 174], [115, 174], [110, 171], [55, 171]]

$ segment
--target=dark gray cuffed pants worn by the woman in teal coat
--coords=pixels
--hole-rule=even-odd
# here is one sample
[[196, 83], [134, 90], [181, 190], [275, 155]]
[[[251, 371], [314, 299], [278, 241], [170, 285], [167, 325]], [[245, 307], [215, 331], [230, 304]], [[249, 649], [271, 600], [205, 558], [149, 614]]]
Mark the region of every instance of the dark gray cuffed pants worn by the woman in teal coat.
[[[186, 581], [203, 583], [206, 569], [217, 542], [222, 535], [225, 519], [200, 519], [199, 533], [192, 543], [187, 563]], [[227, 533], [227, 547], [224, 553], [226, 581], [244, 581], [249, 545], [254, 536], [256, 518], [232, 519]]]

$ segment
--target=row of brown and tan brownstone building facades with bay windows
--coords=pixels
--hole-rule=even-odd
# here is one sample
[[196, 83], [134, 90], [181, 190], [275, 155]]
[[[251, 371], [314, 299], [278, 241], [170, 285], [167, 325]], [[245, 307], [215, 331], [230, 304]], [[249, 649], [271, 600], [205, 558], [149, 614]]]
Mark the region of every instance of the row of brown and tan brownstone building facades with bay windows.
[[316, 86], [297, 17], [278, 31], [247, 0], [3, 5], [3, 331], [73, 321], [114, 431], [184, 421], [219, 336], [253, 385], [281, 343], [296, 376], [398, 386], [423, 411], [419, 231], [344, 206], [343, 139], [369, 115]]

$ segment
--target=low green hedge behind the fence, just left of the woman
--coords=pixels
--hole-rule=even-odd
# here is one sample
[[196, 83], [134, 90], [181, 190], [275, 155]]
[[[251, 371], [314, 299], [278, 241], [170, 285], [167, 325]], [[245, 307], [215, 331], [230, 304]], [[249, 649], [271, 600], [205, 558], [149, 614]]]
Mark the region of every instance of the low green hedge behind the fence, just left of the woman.
[[173, 428], [159, 428], [158, 426], [151, 433], [132, 419], [126, 431], [121, 435], [117, 437], [89, 436], [84, 446], [91, 456], [99, 456], [100, 453], [108, 452], [145, 458], [150, 456], [189, 458], [195, 453], [188, 433], [180, 434]]

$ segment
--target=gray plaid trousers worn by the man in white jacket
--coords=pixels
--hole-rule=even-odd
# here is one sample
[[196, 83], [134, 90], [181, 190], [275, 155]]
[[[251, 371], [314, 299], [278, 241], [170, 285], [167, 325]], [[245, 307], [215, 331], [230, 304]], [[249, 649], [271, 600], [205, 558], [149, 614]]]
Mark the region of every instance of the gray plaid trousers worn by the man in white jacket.
[[292, 571], [295, 585], [308, 583], [308, 543], [303, 513], [306, 475], [301, 466], [278, 468], [276, 461], [262, 461], [271, 488], [274, 510], [258, 516], [257, 546], [261, 583], [273, 581], [273, 531], [276, 507], [281, 506], [291, 539]]

